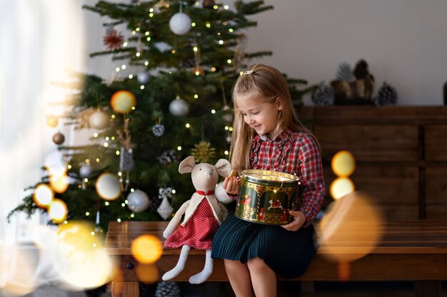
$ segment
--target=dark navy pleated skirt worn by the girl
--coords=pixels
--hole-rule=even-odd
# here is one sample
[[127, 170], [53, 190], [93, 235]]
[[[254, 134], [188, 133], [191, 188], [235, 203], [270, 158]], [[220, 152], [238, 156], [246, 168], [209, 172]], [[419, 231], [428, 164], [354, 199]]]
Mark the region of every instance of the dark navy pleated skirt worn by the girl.
[[313, 226], [287, 231], [230, 214], [214, 235], [211, 257], [244, 264], [259, 257], [278, 275], [295, 278], [306, 271], [315, 256], [314, 233]]

